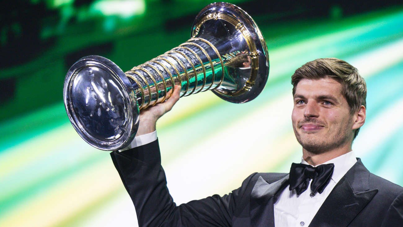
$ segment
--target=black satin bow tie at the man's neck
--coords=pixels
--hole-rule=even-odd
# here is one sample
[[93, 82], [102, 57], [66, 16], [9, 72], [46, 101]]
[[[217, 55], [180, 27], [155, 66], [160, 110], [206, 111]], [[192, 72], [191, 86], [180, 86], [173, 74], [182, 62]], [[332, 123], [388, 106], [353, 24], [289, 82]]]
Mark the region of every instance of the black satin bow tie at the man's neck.
[[334, 164], [323, 164], [313, 167], [305, 164], [291, 164], [290, 191], [295, 189], [297, 195], [303, 193], [312, 179], [311, 190], [313, 193], [322, 193], [333, 174]]

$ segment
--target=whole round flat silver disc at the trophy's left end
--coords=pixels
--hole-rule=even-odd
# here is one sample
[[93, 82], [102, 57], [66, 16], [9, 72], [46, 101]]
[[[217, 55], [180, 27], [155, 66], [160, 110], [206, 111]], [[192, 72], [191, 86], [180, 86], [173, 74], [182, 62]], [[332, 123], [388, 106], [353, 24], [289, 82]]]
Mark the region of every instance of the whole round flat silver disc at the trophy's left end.
[[112, 151], [133, 140], [138, 103], [129, 79], [112, 61], [96, 55], [77, 61], [67, 73], [63, 97], [71, 124], [93, 147]]

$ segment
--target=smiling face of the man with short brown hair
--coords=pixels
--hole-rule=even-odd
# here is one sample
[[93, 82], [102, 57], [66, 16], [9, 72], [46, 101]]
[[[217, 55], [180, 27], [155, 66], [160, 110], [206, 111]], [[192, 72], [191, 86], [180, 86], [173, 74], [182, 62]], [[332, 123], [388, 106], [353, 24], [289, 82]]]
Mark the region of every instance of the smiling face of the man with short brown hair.
[[351, 146], [355, 118], [341, 91], [342, 85], [332, 78], [302, 79], [297, 84], [291, 119], [303, 149], [323, 153]]

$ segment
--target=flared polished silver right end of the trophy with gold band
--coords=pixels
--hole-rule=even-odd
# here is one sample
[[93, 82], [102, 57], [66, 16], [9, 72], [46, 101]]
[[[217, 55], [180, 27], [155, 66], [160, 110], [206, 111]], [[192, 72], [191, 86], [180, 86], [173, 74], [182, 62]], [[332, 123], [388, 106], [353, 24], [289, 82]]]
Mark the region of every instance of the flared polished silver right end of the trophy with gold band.
[[[222, 75], [218, 65], [214, 68], [218, 69], [218, 77], [211, 89], [216, 95], [226, 101], [244, 103], [262, 92], [269, 72], [267, 45], [258, 25], [245, 11], [225, 2], [210, 4], [197, 15], [191, 36], [209, 40], [218, 49], [224, 64], [240, 51], [250, 55], [251, 75], [229, 66], [224, 67]], [[210, 53], [214, 56], [212, 50]], [[218, 59], [214, 61], [218, 63]], [[224, 76], [222, 83], [218, 81], [220, 76]]]

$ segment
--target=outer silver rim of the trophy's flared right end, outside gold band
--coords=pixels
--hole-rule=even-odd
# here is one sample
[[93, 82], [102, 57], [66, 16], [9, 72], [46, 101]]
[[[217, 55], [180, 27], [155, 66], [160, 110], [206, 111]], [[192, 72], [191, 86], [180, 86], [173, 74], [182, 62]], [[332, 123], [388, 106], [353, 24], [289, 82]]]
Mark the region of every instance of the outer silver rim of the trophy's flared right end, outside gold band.
[[[225, 12], [222, 12], [221, 11], [222, 9], [225, 9]], [[225, 101], [229, 101], [232, 103], [245, 103], [251, 101], [256, 97], [258, 97], [258, 95], [260, 95], [260, 93], [263, 91], [269, 76], [270, 65], [269, 65], [269, 55], [266, 40], [264, 39], [264, 36], [260, 28], [258, 27], [256, 22], [252, 19], [252, 17], [249, 16], [249, 14], [247, 14], [245, 11], [243, 11], [243, 9], [239, 8], [238, 6], [227, 2], [214, 2], [204, 7], [202, 11], [200, 11], [199, 14], [197, 14], [195, 20], [193, 21], [193, 25], [191, 28], [191, 37], [197, 37], [198, 33], [197, 25], [199, 24], [199, 26], [201, 26], [202, 19], [206, 15], [213, 13], [224, 13], [236, 18], [240, 23], [243, 24], [243, 26], [247, 28], [249, 34], [253, 36], [253, 42], [257, 48], [259, 57], [256, 79], [259, 79], [260, 81], [258, 83], [253, 84], [251, 88], [246, 92], [224, 93], [220, 92], [219, 90], [215, 90], [217, 87], [213, 88], [212, 92], [214, 92], [214, 94], [216, 94], [221, 99], [224, 99]]]

